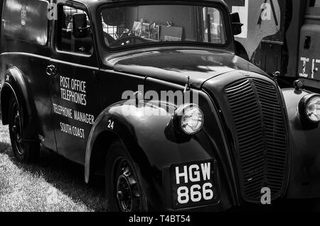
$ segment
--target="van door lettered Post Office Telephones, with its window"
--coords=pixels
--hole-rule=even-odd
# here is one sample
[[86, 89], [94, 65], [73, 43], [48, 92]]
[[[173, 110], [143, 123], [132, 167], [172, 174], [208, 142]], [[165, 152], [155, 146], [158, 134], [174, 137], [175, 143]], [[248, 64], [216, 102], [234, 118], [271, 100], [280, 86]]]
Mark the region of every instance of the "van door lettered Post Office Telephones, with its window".
[[[85, 13], [79, 4], [59, 4], [50, 64], [51, 99], [58, 153], [84, 164], [87, 139], [97, 117], [98, 63], [90, 28], [85, 38], [73, 35], [73, 15]], [[90, 19], [87, 16], [90, 26]]]

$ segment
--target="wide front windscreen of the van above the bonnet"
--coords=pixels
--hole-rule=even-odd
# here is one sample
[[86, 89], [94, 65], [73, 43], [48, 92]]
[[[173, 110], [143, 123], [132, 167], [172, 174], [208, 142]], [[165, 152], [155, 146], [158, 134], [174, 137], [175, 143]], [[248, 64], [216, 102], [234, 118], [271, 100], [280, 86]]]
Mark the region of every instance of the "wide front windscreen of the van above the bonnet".
[[226, 43], [223, 13], [188, 5], [105, 8], [100, 12], [103, 39], [110, 48], [154, 43]]

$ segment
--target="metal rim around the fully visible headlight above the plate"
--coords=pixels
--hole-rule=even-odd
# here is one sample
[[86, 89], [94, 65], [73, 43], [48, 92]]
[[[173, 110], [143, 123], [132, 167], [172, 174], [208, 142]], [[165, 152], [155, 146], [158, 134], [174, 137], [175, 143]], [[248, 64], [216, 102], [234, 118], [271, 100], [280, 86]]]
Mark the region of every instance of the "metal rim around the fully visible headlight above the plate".
[[[186, 111], [189, 111], [190, 109], [194, 109], [196, 108], [199, 113], [201, 113], [201, 116], [202, 116], [202, 121], [201, 121], [201, 124], [200, 126], [198, 127], [197, 130], [193, 131], [193, 132], [187, 132], [186, 130], [183, 129], [183, 125], [182, 125], [182, 117], [183, 117], [183, 113], [186, 113]], [[196, 135], [198, 132], [200, 132], [203, 128], [203, 125], [204, 125], [204, 113], [203, 111], [201, 110], [201, 108], [195, 104], [195, 103], [185, 103], [181, 106], [179, 106], [176, 111], [174, 112], [174, 116], [173, 116], [173, 121], [174, 121], [174, 127], [176, 128], [176, 130], [178, 132], [181, 132], [185, 135]]]

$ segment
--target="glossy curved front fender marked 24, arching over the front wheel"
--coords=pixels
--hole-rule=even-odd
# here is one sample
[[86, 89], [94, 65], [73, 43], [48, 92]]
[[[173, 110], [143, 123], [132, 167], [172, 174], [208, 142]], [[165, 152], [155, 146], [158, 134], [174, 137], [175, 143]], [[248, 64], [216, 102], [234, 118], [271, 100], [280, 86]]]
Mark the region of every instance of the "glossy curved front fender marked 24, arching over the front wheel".
[[[85, 180], [89, 180], [90, 157], [95, 140], [104, 131], [113, 132], [129, 147], [132, 159], [139, 165], [142, 185], [151, 208], [171, 210], [169, 166], [215, 160], [217, 151], [205, 131], [194, 136], [178, 134], [171, 124], [174, 109], [174, 106], [168, 105], [159, 107], [141, 103], [136, 106], [122, 101], [102, 111], [87, 143]], [[223, 205], [215, 205], [214, 208], [221, 210]]]

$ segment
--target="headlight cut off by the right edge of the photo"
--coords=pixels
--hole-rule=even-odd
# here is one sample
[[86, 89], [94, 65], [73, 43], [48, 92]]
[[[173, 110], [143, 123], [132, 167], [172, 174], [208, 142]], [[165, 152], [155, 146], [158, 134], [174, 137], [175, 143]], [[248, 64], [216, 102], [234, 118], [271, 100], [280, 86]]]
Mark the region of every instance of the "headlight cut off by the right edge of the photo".
[[320, 122], [320, 95], [309, 94], [299, 103], [299, 113], [311, 123]]

